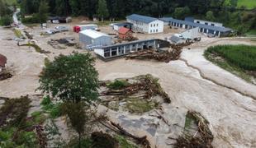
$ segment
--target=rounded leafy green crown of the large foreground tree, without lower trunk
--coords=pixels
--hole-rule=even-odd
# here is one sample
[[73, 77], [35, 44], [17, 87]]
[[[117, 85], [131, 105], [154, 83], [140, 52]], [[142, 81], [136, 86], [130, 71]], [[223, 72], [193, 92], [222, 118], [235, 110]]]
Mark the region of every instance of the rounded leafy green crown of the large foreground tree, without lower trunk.
[[40, 75], [39, 90], [64, 101], [90, 104], [97, 100], [98, 73], [90, 53], [60, 55], [46, 64]]

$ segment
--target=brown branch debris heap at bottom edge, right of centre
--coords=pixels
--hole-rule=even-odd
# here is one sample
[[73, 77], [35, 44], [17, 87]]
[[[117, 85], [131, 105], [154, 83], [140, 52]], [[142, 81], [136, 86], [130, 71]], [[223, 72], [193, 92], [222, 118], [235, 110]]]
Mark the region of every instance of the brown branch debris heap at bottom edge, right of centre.
[[183, 136], [179, 136], [178, 139], [174, 139], [176, 143], [174, 143], [173, 146], [213, 147], [211, 146], [211, 142], [213, 141], [213, 135], [210, 128], [208, 127], [209, 122], [201, 116], [201, 113], [197, 113], [194, 111], [188, 111], [187, 117], [192, 119], [194, 124], [197, 126], [197, 130], [195, 132], [191, 125], [188, 124], [187, 127], [185, 127], [185, 132], [183, 133]]

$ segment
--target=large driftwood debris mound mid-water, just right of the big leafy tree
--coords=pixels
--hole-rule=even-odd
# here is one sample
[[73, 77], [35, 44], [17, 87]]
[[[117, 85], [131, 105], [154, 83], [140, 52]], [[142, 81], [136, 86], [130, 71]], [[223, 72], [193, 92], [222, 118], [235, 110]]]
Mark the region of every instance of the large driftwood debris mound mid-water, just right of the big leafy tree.
[[101, 103], [119, 112], [147, 113], [159, 104], [171, 103], [158, 79], [151, 75], [102, 81], [100, 86]]

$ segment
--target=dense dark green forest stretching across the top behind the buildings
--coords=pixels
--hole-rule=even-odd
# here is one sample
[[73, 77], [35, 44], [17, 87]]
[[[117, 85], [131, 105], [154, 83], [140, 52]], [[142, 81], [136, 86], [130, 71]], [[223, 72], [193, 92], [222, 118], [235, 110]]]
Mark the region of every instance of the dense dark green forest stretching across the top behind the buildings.
[[[0, 0], [4, 1], [4, 0]], [[24, 15], [39, 12], [41, 1], [48, 4], [50, 16], [87, 16], [125, 19], [138, 13], [147, 16], [173, 16], [183, 19], [195, 16], [244, 33], [256, 30], [256, 9], [237, 7], [238, 0], [17, 0]]]

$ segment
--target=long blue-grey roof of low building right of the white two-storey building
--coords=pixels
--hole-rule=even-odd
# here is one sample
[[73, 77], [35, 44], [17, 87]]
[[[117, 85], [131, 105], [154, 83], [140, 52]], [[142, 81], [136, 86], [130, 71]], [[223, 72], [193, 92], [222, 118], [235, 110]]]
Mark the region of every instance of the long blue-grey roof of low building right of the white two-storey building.
[[194, 23], [191, 21], [177, 20], [177, 19], [173, 19], [173, 17], [164, 17], [164, 18], [160, 18], [159, 20], [162, 20], [165, 22], [176, 22], [178, 24], [190, 25], [190, 26], [195, 26], [195, 27], [199, 27], [199, 28], [204, 28], [207, 30], [216, 30], [216, 31], [220, 31], [220, 32], [228, 32], [228, 31], [232, 30], [230, 28], [225, 28], [225, 27], [220, 27], [220, 26], [204, 25], [204, 24]]

